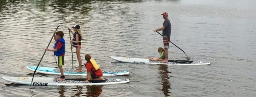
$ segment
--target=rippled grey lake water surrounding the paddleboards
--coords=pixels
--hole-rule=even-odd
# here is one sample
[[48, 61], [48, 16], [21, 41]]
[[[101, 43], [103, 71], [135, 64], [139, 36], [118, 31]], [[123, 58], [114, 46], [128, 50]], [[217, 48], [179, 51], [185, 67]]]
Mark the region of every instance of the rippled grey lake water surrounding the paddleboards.
[[[254, 97], [255, 4], [255, 0], [1, 0], [1, 77], [32, 77], [26, 66], [38, 64], [52, 32], [60, 26], [58, 31], [69, 40], [67, 28], [74, 24], [83, 32], [81, 56], [90, 53], [102, 69], [132, 73], [114, 77], [130, 78], [130, 83], [103, 86], [29, 87], [0, 78], [0, 96]], [[163, 11], [169, 12], [171, 41], [191, 60], [211, 65], [131, 64], [110, 58], [158, 57], [157, 48], [163, 43], [153, 29], [161, 27]], [[171, 44], [169, 51], [170, 59], [186, 57]], [[64, 67], [71, 68], [71, 60], [66, 42]], [[40, 66], [56, 67], [54, 61], [53, 52], [47, 51]]]

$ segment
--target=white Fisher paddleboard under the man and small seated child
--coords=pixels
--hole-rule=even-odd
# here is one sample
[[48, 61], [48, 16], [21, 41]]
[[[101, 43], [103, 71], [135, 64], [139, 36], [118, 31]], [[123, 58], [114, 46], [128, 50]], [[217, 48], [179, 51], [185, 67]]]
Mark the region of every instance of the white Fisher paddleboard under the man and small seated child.
[[140, 63], [140, 64], [166, 64], [166, 65], [209, 65], [211, 62], [203, 61], [189, 61], [189, 60], [168, 60], [168, 62], [150, 61], [147, 58], [132, 58], [132, 57], [118, 57], [110, 56], [114, 60], [127, 62], [127, 63]]

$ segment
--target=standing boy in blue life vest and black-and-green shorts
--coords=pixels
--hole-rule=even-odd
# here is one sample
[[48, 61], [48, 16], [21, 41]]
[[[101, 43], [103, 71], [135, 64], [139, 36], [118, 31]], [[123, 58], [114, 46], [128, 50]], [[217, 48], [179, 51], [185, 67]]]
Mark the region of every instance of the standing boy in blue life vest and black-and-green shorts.
[[60, 77], [57, 77], [58, 80], [65, 80], [65, 76], [63, 73], [62, 65], [64, 65], [64, 56], [65, 56], [65, 40], [63, 38], [64, 33], [62, 31], [54, 31], [54, 40], [56, 43], [54, 44], [54, 49], [45, 48], [48, 51], [54, 51], [54, 55], [58, 57], [58, 67], [60, 70]]

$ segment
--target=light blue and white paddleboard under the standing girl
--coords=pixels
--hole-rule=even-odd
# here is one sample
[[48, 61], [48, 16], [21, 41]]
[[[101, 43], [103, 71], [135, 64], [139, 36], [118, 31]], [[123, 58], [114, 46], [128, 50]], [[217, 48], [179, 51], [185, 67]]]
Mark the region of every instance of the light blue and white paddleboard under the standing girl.
[[[27, 68], [29, 70], [35, 71], [36, 66], [27, 66]], [[71, 68], [63, 68], [63, 70], [64, 70], [64, 75], [80, 75], [80, 76], [87, 75], [86, 70], [83, 70], [81, 72], [75, 72], [75, 69], [71, 69]], [[59, 68], [56, 68], [56, 67], [38, 66], [36, 72], [43, 73], [43, 74], [58, 74], [58, 75], [60, 75]], [[102, 70], [102, 72], [103, 72], [103, 76], [117, 76], [117, 75], [125, 75], [125, 74], [130, 73], [127, 70]]]

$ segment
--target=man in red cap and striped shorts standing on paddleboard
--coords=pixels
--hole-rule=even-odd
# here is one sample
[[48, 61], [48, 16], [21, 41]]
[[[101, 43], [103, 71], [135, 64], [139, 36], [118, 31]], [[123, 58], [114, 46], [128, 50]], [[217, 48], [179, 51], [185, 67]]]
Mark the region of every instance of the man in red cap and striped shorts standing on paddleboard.
[[163, 26], [158, 29], [154, 29], [154, 32], [163, 30], [163, 42], [164, 42], [166, 57], [163, 61], [160, 61], [160, 62], [168, 62], [168, 49], [169, 49], [172, 26], [171, 26], [170, 20], [168, 19], [168, 13], [165, 11], [162, 13], [162, 15], [163, 15], [163, 18], [165, 19]]

